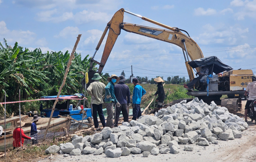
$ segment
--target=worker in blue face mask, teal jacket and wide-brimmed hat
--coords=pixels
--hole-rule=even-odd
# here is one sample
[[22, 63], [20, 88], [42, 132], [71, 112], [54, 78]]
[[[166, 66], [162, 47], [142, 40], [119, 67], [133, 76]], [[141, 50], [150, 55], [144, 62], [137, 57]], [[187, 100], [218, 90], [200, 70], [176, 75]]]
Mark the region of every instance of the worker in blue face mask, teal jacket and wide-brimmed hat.
[[113, 128], [114, 122], [113, 122], [113, 103], [116, 104], [117, 107], [120, 107], [119, 102], [116, 100], [115, 97], [115, 90], [114, 90], [114, 83], [117, 83], [120, 80], [119, 77], [117, 77], [115, 74], [112, 74], [110, 77], [108, 77], [109, 83], [105, 87], [105, 105], [106, 110], [108, 113], [107, 121], [106, 121], [106, 127]]

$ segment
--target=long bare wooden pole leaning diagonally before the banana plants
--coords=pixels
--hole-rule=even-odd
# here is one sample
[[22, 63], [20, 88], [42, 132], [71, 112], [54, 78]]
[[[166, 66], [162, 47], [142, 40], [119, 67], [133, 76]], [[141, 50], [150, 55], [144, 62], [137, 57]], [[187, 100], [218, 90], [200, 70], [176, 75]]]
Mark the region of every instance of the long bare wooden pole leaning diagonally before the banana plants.
[[58, 98], [59, 98], [60, 92], [61, 92], [63, 86], [65, 85], [65, 82], [66, 82], [66, 79], [67, 79], [67, 75], [68, 75], [68, 72], [69, 72], [69, 67], [70, 67], [70, 65], [71, 65], [71, 61], [72, 61], [72, 59], [73, 59], [73, 57], [74, 57], [74, 53], [75, 53], [77, 44], [78, 44], [78, 42], [80, 41], [81, 36], [82, 36], [82, 34], [79, 34], [79, 35], [78, 35], [78, 37], [77, 37], [77, 39], [76, 39], [76, 42], [75, 42], [75, 46], [74, 46], [74, 48], [73, 48], [73, 51], [72, 51], [72, 53], [71, 53], [71, 55], [70, 55], [70, 57], [69, 57], [69, 62], [68, 62], [68, 65], [67, 65], [67, 69], [66, 69], [66, 72], [65, 72], [65, 74], [64, 74], [64, 78], [63, 78], [62, 84], [61, 84], [61, 86], [60, 86], [60, 88], [59, 88], [59, 92], [58, 92], [58, 95], [57, 95], [57, 99], [56, 99], [55, 102], [54, 102], [53, 109], [52, 109], [52, 112], [51, 112], [51, 116], [50, 116], [50, 119], [49, 119], [47, 128], [46, 128], [46, 130], [45, 130], [45, 132], [44, 132], [43, 141], [45, 140], [47, 131], [48, 131], [48, 129], [49, 129], [49, 126], [50, 126], [50, 123], [51, 123], [51, 120], [52, 120], [52, 117], [53, 117], [53, 112], [54, 112], [55, 106], [56, 106], [56, 104], [57, 104], [57, 102], [58, 102]]

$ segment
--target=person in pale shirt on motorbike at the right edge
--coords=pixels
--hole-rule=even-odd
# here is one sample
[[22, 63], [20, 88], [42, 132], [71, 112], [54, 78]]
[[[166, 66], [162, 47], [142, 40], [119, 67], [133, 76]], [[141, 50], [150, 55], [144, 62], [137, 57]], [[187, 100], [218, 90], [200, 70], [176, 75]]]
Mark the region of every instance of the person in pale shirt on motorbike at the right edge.
[[[247, 122], [248, 109], [250, 109], [250, 105], [251, 105], [252, 101], [256, 99], [256, 75], [252, 76], [252, 80], [253, 80], [253, 82], [248, 83], [246, 90], [244, 92], [245, 96], [247, 96], [247, 92], [249, 92], [249, 97], [248, 97], [248, 100], [246, 102], [245, 109], [244, 109], [245, 122]], [[253, 122], [253, 119], [252, 119], [252, 122]]]

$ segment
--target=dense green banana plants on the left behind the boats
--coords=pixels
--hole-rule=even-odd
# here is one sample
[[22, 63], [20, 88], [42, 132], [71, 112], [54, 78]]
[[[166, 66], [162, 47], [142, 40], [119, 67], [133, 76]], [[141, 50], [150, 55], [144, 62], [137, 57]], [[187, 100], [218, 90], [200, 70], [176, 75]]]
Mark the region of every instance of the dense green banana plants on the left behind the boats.
[[[18, 46], [17, 42], [13, 48], [5, 39], [4, 43], [5, 47], [0, 43], [0, 102], [4, 101], [4, 91], [7, 102], [19, 100], [19, 89], [20, 100], [33, 100], [58, 93], [70, 57], [69, 51], [42, 53], [40, 48], [30, 51]], [[80, 53], [74, 54], [62, 95], [84, 93], [81, 81], [90, 67], [88, 57], [82, 59]], [[46, 102], [42, 103], [45, 107]], [[39, 105], [40, 101], [21, 103], [22, 113], [39, 110]], [[0, 113], [3, 113], [0, 106]], [[18, 104], [6, 105], [7, 116], [18, 114], [18, 110]]]

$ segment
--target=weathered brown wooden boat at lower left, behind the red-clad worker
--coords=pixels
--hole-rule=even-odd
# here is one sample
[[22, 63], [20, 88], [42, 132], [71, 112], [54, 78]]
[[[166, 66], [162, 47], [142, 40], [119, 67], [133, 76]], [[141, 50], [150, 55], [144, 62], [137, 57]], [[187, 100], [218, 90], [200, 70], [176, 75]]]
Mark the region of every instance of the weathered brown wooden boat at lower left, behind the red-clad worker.
[[[30, 136], [30, 129], [32, 124], [33, 117], [29, 117], [28, 115], [21, 115], [21, 120], [26, 124], [22, 127], [26, 136]], [[19, 116], [14, 116], [12, 118], [6, 119], [6, 130], [5, 131], [5, 139], [6, 139], [6, 150], [13, 149], [13, 131], [15, 129], [15, 123], [19, 121]], [[41, 118], [37, 122], [37, 129], [44, 130], [48, 125], [49, 118]], [[49, 126], [48, 131], [63, 131], [63, 127], [69, 130], [71, 125], [71, 120], [66, 118], [52, 118], [51, 124]], [[0, 126], [4, 129], [4, 120], [0, 121]], [[4, 132], [0, 136], [0, 152], [4, 151]]]

